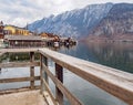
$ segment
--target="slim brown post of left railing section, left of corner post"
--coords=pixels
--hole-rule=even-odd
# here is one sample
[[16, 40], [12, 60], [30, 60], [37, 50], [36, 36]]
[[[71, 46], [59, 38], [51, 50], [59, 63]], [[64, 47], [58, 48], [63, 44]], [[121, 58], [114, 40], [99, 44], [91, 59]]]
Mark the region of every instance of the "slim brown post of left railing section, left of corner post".
[[[30, 52], [30, 62], [34, 61], [34, 52]], [[30, 82], [31, 88], [34, 88], [34, 66], [30, 66], [30, 76], [33, 78]]]

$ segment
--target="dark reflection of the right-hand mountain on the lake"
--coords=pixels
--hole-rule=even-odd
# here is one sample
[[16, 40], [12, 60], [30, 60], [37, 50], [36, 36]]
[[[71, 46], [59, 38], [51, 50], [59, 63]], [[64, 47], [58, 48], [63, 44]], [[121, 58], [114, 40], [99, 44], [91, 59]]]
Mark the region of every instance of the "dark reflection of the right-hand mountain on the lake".
[[99, 63], [133, 73], [132, 43], [88, 43]]

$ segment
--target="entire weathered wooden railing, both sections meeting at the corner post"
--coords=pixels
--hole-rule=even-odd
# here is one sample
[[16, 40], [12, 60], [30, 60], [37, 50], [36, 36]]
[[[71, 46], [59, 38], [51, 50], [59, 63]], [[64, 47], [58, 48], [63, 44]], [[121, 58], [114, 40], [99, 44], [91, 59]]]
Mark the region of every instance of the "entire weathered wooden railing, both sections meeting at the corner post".
[[[1, 63], [0, 67], [24, 67], [30, 66], [30, 77], [17, 78], [0, 78], [0, 83], [25, 82], [30, 81], [30, 86], [24, 87], [28, 92], [40, 90], [40, 95], [44, 97], [44, 103], [48, 105], [63, 105], [63, 96], [68, 98], [71, 105], [83, 105], [64, 85], [63, 85], [63, 69], [68, 69], [75, 75], [84, 78], [108, 93], [119, 97], [129, 105], [133, 105], [133, 74], [122, 72], [112, 67], [103, 66], [65, 54], [61, 54], [48, 49], [2, 49], [0, 53], [6, 52], [29, 52], [29, 62], [11, 62]], [[34, 61], [34, 52], [40, 53], [40, 61]], [[55, 64], [55, 75], [48, 67], [48, 60], [51, 59]], [[34, 66], [40, 66], [40, 75], [34, 76]], [[55, 84], [55, 95], [49, 87], [50, 77]], [[35, 86], [34, 81], [40, 81], [40, 86]], [[12, 91], [1, 91], [1, 96]], [[16, 92], [20, 92], [16, 90]], [[13, 93], [14, 94], [14, 93]], [[32, 94], [31, 94], [32, 95]], [[41, 98], [41, 97], [40, 97]], [[8, 102], [9, 98], [7, 98]], [[0, 102], [2, 103], [2, 102]], [[4, 104], [8, 105], [8, 104]], [[22, 104], [27, 105], [27, 104]], [[28, 104], [29, 105], [29, 104]], [[39, 104], [30, 104], [39, 105]]]

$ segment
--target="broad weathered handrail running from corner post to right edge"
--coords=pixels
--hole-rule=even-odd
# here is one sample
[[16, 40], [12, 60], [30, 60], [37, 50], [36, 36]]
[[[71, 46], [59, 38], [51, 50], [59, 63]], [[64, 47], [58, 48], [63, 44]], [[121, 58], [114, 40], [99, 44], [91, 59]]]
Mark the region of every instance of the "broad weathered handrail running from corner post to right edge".
[[133, 74], [75, 59], [48, 49], [40, 49], [39, 52], [110, 94], [129, 104], [133, 103]]

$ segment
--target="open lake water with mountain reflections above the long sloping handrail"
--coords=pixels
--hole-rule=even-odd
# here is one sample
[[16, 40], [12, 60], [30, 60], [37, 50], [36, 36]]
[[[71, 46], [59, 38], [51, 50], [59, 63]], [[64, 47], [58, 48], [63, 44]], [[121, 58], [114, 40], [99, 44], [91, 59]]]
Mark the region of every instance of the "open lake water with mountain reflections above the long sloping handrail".
[[133, 73], [133, 43], [79, 43], [60, 52]]

